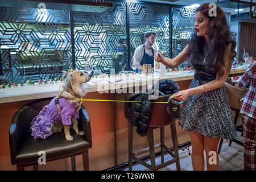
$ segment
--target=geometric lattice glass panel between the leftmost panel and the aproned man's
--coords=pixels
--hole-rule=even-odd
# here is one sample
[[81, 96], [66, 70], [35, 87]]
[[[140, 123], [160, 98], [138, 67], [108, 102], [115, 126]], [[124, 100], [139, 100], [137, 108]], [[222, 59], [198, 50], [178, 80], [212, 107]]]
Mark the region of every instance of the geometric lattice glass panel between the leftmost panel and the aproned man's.
[[127, 69], [125, 2], [113, 2], [102, 13], [73, 11], [73, 20], [77, 69], [84, 69], [87, 61], [105, 73]]

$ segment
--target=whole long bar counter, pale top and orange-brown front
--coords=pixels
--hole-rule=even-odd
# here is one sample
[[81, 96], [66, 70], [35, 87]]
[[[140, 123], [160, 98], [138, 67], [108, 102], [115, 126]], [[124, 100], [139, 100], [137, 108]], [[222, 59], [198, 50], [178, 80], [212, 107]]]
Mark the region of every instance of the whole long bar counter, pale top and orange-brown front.
[[[236, 69], [230, 72], [230, 76], [242, 75], [246, 69]], [[148, 78], [147, 78], [148, 79]], [[180, 90], [188, 89], [193, 79], [193, 72], [168, 72], [164, 77], [151, 78], [151, 82], [159, 79], [171, 79], [176, 81]], [[60, 92], [63, 82], [47, 85], [23, 86], [22, 88], [0, 89], [0, 170], [16, 170], [11, 165], [9, 149], [9, 130], [13, 114], [20, 107], [40, 98], [55, 97]], [[102, 82], [101, 85], [87, 85], [88, 93], [84, 98], [94, 100], [125, 100], [129, 94], [129, 88], [143, 88], [148, 84], [143, 78], [136, 78], [122, 82]], [[127, 88], [127, 93], [117, 93], [117, 88]], [[100, 90], [100, 92], [98, 92]], [[113, 92], [114, 90], [114, 92]], [[98, 102], [83, 101], [82, 104], [88, 111], [92, 127], [92, 148], [89, 150], [90, 170], [102, 170], [117, 166], [128, 161], [127, 120], [124, 116], [123, 102]], [[184, 144], [189, 142], [188, 133], [177, 126], [177, 142]], [[170, 127], [165, 128], [165, 140], [167, 147], [172, 147]], [[134, 127], [133, 150], [147, 148], [147, 137], [141, 137]], [[160, 142], [160, 130], [154, 130], [155, 144]], [[158, 150], [156, 150], [158, 152]], [[82, 156], [76, 157], [76, 169], [82, 170]], [[26, 167], [25, 170], [32, 170]], [[69, 158], [48, 162], [39, 165], [39, 170], [71, 170]]]

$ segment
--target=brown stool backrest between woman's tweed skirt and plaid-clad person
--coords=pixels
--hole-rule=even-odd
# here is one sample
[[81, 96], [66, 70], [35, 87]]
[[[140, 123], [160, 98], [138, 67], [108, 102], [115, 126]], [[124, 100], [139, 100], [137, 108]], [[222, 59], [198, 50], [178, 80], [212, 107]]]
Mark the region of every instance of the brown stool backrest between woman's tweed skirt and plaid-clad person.
[[231, 84], [228, 84], [225, 82], [226, 86], [226, 93], [228, 94], [229, 98], [229, 105], [232, 109], [241, 109], [241, 98], [245, 97], [245, 94], [247, 93], [248, 89], [241, 89], [237, 86], [233, 86]]

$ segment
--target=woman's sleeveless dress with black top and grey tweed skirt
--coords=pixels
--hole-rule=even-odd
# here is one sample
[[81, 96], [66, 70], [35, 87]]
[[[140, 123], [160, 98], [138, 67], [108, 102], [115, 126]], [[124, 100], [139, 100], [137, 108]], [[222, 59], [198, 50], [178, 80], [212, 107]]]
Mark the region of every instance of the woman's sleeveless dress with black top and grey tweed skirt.
[[[195, 88], [216, 78], [210, 60], [197, 61], [195, 78], [189, 88]], [[180, 126], [185, 131], [196, 131], [206, 137], [237, 138], [228, 95], [224, 86], [209, 92], [193, 94], [184, 101], [179, 115]]]

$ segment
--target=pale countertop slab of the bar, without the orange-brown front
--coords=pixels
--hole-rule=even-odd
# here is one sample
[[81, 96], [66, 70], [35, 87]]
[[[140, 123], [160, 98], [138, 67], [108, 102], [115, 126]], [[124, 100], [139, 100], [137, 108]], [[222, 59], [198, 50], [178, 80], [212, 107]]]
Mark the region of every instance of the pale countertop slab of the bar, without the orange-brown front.
[[[241, 75], [245, 72], [245, 70], [246, 69], [232, 70], [230, 71], [230, 76]], [[167, 72], [164, 76], [160, 78], [159, 76], [155, 77], [154, 75], [148, 77], [139, 77], [134, 75], [132, 79], [123, 79], [121, 82], [118, 82], [118, 77], [114, 77], [113, 79], [102, 79], [100, 84], [93, 84], [92, 82], [89, 82], [90, 84], [86, 84], [86, 87], [88, 93], [97, 92], [99, 90], [106, 93], [106, 90], [125, 89], [131, 86], [144, 86], [147, 85], [148, 82], [155, 83], [156, 81], [161, 79], [171, 79], [173, 81], [192, 80], [193, 75], [193, 71]], [[0, 104], [8, 102], [33, 100], [37, 98], [55, 97], [60, 92], [61, 85], [63, 85], [63, 82], [53, 81], [52, 84], [39, 85], [36, 83], [36, 85], [26, 85], [23, 87], [18, 86], [15, 88], [0, 89]]]

